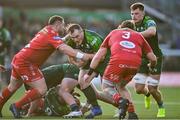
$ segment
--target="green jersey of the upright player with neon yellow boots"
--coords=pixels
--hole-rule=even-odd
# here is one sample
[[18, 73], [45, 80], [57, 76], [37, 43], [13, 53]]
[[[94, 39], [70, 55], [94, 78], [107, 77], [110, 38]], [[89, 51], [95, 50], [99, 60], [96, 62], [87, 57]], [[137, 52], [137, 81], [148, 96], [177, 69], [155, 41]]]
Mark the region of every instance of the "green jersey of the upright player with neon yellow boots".
[[[149, 27], [155, 26], [156, 27], [156, 23], [155, 21], [150, 18], [149, 16], [145, 16], [142, 23], [139, 25], [136, 25], [136, 31], [138, 32], [143, 32], [146, 29], [148, 29]], [[151, 37], [151, 38], [146, 38], [147, 42], [149, 43], [149, 45], [151, 46], [154, 54], [157, 57], [162, 56], [162, 52], [161, 49], [159, 47], [159, 40], [158, 40], [158, 34], [156, 32], [156, 35]]]

